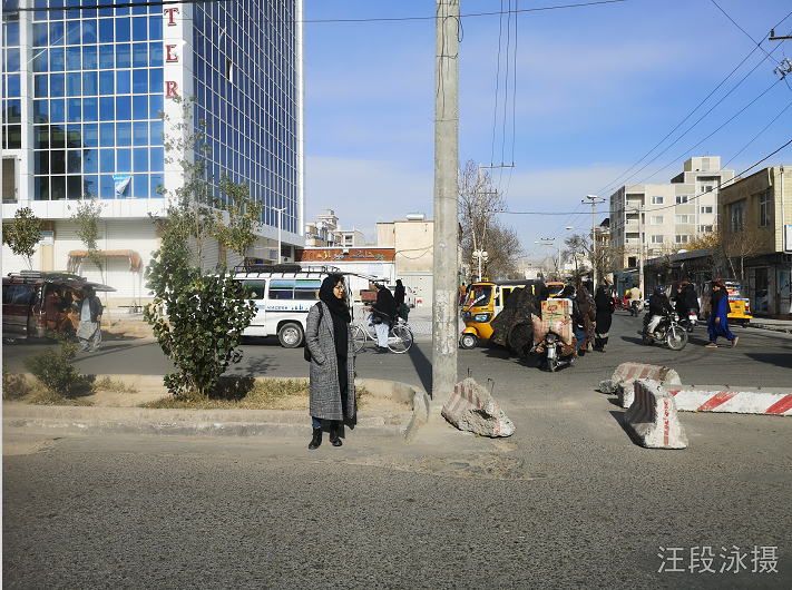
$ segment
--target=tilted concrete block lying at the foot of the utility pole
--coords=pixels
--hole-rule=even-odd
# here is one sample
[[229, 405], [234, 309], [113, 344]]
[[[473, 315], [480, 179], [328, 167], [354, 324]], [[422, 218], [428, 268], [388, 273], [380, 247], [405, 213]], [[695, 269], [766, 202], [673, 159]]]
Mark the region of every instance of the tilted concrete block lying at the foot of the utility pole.
[[459, 430], [481, 436], [511, 436], [515, 424], [495, 403], [490, 393], [468, 377], [453, 386], [453, 394], [441, 411]]

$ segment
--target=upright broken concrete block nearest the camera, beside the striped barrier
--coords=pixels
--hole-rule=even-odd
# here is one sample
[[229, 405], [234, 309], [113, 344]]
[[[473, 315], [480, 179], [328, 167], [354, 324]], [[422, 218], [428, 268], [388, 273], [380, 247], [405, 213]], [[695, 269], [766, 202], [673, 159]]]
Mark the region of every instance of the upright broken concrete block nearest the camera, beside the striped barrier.
[[647, 449], [685, 449], [687, 436], [676, 415], [674, 396], [658, 382], [636, 380], [634, 401], [624, 414], [630, 435]]

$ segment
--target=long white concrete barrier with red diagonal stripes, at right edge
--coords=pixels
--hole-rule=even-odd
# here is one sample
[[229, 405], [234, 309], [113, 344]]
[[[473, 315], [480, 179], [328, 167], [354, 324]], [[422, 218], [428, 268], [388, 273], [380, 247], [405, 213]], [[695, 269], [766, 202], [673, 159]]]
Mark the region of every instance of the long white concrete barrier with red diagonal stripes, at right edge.
[[668, 392], [683, 412], [792, 415], [792, 389], [678, 385]]

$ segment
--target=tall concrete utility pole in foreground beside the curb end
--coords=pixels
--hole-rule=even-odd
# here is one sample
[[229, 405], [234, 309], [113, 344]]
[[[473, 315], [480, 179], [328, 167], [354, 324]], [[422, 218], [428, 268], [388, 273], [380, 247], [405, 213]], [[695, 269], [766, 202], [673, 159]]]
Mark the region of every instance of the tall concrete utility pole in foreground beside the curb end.
[[439, 407], [457, 383], [459, 0], [437, 0], [436, 10], [432, 404]]

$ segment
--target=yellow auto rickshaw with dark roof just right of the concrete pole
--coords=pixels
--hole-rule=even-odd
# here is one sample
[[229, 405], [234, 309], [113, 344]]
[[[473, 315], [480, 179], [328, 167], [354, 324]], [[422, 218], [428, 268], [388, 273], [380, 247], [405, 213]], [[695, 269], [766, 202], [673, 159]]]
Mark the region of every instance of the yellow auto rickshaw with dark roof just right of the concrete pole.
[[503, 308], [509, 296], [519, 288], [537, 293], [540, 285], [541, 281], [482, 281], [470, 285], [462, 306], [466, 327], [459, 336], [459, 345], [470, 350], [479, 341], [488, 341], [492, 335], [490, 322]]

